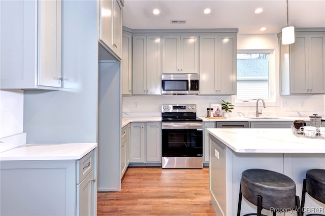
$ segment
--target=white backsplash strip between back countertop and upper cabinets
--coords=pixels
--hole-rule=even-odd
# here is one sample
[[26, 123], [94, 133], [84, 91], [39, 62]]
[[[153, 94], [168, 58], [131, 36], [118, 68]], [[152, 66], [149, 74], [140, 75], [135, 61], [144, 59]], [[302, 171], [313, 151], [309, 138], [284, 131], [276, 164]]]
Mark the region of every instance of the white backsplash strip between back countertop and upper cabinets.
[[[159, 117], [162, 104], [197, 104], [197, 115], [205, 116], [210, 104], [221, 103], [221, 99], [231, 101], [231, 96], [200, 96], [200, 95], [163, 95], [163, 96], [124, 96], [122, 97], [123, 117]], [[303, 102], [303, 104], [301, 104]], [[280, 96], [280, 106], [266, 106], [262, 102], [259, 110], [262, 115], [308, 117], [318, 114], [325, 118], [325, 96]], [[249, 107], [235, 106], [230, 117], [254, 116], [256, 104]]]

